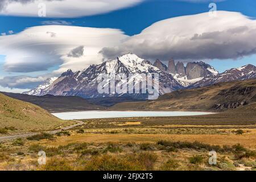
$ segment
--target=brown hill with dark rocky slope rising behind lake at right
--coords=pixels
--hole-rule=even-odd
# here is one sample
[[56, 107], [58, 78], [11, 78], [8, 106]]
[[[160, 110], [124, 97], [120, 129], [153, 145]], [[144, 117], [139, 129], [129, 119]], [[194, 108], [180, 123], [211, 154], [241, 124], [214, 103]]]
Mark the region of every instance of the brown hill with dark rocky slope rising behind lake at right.
[[256, 80], [247, 80], [177, 90], [160, 96], [158, 100], [120, 103], [110, 109], [224, 111], [254, 102], [256, 102]]

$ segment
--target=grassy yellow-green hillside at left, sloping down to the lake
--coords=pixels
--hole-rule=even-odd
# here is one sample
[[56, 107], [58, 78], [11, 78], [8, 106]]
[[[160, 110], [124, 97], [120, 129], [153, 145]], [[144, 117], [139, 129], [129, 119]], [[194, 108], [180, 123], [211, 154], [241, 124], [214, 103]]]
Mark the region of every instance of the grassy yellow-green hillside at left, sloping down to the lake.
[[17, 131], [52, 130], [68, 123], [39, 106], [0, 93], [0, 129], [12, 127]]

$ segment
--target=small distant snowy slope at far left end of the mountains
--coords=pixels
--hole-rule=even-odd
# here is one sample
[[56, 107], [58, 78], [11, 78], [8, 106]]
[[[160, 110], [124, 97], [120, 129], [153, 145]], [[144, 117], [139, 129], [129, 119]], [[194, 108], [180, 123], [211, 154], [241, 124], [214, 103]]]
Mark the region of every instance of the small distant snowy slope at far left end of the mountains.
[[28, 92], [24, 92], [24, 94], [34, 95], [34, 96], [43, 96], [44, 92], [47, 92], [47, 90], [49, 89], [49, 86], [51, 86], [55, 80], [57, 80], [57, 77], [48, 78], [46, 81], [43, 82], [43, 84], [39, 85], [35, 89], [32, 89]]

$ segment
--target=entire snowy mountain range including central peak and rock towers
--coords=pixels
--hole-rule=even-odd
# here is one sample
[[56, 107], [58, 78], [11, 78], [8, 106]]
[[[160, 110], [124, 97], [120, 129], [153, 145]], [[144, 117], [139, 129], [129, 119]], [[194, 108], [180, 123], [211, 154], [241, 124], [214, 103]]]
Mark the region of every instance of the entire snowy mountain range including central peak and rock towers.
[[[171, 59], [167, 66], [160, 60], [151, 64], [150, 61], [144, 60], [133, 53], [128, 53], [102, 64], [90, 65], [89, 68], [83, 71], [73, 72], [69, 69], [61, 74], [59, 78], [49, 78], [46, 82], [25, 94], [34, 96], [44, 96], [46, 94], [80, 96], [83, 98], [130, 97], [146, 99], [148, 97], [148, 93], [98, 93], [98, 77], [104, 73], [135, 74], [134, 77], [129, 77], [127, 82], [137, 77], [136, 74], [153, 75], [158, 73], [159, 95], [163, 95], [175, 90], [199, 88], [218, 82], [250, 80], [256, 78], [256, 67], [249, 64], [241, 68], [229, 69], [224, 73], [218, 73], [211, 65], [203, 61], [187, 63], [184, 66], [181, 62], [175, 64], [175, 61]], [[135, 87], [137, 84], [140, 84], [140, 82], [135, 82], [133, 86]]]

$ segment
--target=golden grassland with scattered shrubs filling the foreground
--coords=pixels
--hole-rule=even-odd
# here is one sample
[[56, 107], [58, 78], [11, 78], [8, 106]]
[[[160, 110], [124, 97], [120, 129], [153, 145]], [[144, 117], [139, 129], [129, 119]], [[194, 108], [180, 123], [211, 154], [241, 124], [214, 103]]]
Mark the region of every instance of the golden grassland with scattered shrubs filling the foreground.
[[[139, 118], [137, 118], [139, 119]], [[148, 125], [93, 119], [48, 139], [0, 145], [1, 170], [255, 170], [255, 125]], [[123, 124], [122, 124], [123, 123]], [[154, 131], [154, 133], [152, 133]], [[240, 132], [238, 132], [240, 131]], [[35, 137], [34, 137], [35, 139]], [[240, 143], [240, 144], [238, 144]], [[46, 151], [47, 164], [37, 162]], [[208, 163], [217, 151], [217, 165]]]

